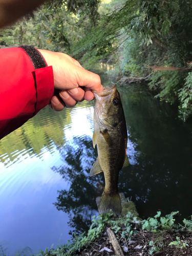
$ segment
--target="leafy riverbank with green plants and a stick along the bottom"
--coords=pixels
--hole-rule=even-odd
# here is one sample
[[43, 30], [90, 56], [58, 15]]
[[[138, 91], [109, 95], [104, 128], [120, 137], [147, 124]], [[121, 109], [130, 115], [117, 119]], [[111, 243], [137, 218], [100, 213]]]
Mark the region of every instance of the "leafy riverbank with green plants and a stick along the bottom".
[[122, 215], [110, 211], [93, 217], [88, 234], [76, 236], [67, 245], [41, 251], [43, 255], [192, 255], [192, 221], [176, 224], [178, 211], [165, 217], [158, 211], [153, 218], [142, 220], [132, 201], [121, 195]]

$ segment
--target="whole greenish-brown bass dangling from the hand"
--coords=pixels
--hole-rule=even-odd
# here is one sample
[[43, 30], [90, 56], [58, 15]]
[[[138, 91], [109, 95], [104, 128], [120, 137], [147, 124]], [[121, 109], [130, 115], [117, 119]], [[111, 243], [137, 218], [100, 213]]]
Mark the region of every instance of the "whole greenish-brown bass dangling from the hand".
[[98, 205], [99, 214], [112, 209], [115, 214], [120, 215], [119, 172], [130, 165], [126, 155], [127, 129], [122, 102], [116, 84], [93, 93], [96, 98], [93, 147], [97, 144], [98, 157], [90, 176], [104, 173], [105, 188]]

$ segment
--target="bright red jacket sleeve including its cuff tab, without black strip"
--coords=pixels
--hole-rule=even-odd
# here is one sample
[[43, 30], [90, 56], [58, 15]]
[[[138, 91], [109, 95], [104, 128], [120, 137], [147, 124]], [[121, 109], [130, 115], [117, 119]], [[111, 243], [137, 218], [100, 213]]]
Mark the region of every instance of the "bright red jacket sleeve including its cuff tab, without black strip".
[[35, 70], [22, 48], [0, 49], [0, 139], [48, 105], [53, 92], [52, 66]]

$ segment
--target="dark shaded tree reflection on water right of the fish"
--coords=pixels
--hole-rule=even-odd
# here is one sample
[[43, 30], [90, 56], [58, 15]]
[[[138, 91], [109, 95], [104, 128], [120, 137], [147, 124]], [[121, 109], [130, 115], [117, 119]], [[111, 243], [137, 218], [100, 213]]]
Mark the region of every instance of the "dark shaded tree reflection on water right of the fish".
[[132, 167], [120, 172], [119, 189], [132, 196], [141, 216], [152, 216], [158, 209], [163, 214], [180, 210], [182, 217], [191, 215], [187, 205], [192, 199], [189, 126], [176, 118], [173, 107], [139, 86], [121, 95], [135, 153], [131, 153]]

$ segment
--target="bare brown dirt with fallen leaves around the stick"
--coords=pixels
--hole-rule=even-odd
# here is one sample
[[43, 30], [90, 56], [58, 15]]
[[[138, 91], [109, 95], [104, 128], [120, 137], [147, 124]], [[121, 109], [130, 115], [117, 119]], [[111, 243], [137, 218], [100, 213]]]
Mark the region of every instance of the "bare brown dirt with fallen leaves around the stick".
[[[131, 241], [122, 239], [121, 232], [121, 230], [118, 231], [115, 236], [123, 249], [124, 256], [192, 256], [192, 236], [189, 232], [159, 231], [157, 233], [153, 233], [138, 229], [136, 236], [131, 237]], [[186, 244], [185, 248], [178, 248], [175, 245], [169, 245], [170, 242], [177, 240], [176, 237], [180, 239], [181, 244], [183, 244], [183, 242]], [[152, 249], [152, 246], [149, 245], [150, 241], [153, 241], [155, 246], [159, 246], [160, 250], [154, 251], [150, 254], [150, 250]], [[115, 252], [108, 234], [104, 232], [101, 233], [100, 237], [95, 242], [92, 242], [87, 248], [83, 248], [77, 255], [112, 256], [115, 255]]]

